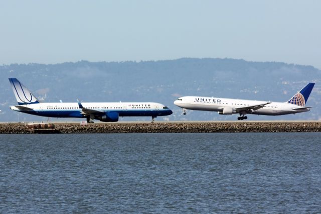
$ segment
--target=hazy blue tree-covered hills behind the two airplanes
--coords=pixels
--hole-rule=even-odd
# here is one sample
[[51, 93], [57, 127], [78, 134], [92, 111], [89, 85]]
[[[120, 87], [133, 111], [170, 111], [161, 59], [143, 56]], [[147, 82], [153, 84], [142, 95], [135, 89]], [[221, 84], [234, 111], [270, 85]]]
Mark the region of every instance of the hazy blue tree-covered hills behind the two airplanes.
[[[183, 95], [216, 96], [287, 101], [307, 82], [315, 82], [308, 113], [288, 116], [249, 116], [249, 120], [321, 120], [321, 71], [305, 65], [282, 62], [249, 62], [242, 59], [182, 58], [141, 62], [66, 62], [61, 64], [11, 64], [0, 66], [0, 121], [18, 121], [19, 113], [9, 110], [16, 99], [8, 81], [20, 79], [40, 99], [76, 101], [154, 101], [173, 110], [173, 115], [156, 120], [236, 120], [216, 112], [188, 111], [173, 104]], [[46, 118], [20, 114], [25, 121]], [[60, 119], [66, 121], [66, 119]], [[77, 119], [75, 119], [77, 120]], [[78, 119], [79, 120], [79, 119]], [[123, 118], [150, 120], [149, 118]], [[52, 119], [56, 121], [56, 119]]]

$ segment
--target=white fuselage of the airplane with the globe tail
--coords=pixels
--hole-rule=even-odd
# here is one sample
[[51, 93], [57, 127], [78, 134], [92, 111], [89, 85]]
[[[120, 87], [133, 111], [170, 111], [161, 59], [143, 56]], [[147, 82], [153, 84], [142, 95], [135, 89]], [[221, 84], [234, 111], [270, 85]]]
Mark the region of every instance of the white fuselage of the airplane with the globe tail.
[[267, 101], [246, 100], [246, 99], [228, 99], [217, 97], [202, 97], [202, 96], [183, 96], [175, 100], [177, 106], [198, 111], [213, 111], [223, 113], [224, 108], [233, 109], [232, 114], [255, 114], [255, 115], [287, 115], [300, 112], [307, 112], [309, 109], [297, 109], [298, 105], [287, 102], [270, 102], [257, 110], [235, 110], [246, 108]]

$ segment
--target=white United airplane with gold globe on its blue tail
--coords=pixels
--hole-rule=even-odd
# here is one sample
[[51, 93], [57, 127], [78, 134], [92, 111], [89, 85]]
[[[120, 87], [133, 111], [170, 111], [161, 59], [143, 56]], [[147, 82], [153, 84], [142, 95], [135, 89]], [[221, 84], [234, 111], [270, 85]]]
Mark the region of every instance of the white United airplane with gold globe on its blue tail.
[[186, 110], [213, 111], [220, 115], [239, 114], [238, 120], [246, 120], [247, 114], [253, 115], [288, 115], [308, 112], [312, 107], [305, 106], [314, 83], [308, 83], [287, 102], [257, 101], [245, 99], [228, 99], [203, 96], [183, 96], [174, 104]]

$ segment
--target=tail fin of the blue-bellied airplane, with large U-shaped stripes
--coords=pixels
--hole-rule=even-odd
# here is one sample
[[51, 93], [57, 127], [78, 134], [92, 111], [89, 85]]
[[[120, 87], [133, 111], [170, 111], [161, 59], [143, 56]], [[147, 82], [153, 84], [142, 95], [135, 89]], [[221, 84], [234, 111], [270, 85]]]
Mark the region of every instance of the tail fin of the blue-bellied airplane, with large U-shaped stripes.
[[25, 105], [25, 104], [34, 104], [39, 103], [36, 96], [30, 92], [25, 85], [23, 85], [18, 79], [16, 78], [9, 78], [10, 84], [18, 101], [18, 104]]

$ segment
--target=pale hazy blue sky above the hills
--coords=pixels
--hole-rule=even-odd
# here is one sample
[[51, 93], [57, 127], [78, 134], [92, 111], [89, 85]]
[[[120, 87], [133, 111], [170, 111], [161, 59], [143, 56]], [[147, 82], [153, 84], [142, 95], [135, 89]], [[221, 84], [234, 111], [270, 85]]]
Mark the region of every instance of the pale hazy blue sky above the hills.
[[321, 68], [321, 1], [2, 1], [0, 64], [281, 61]]

